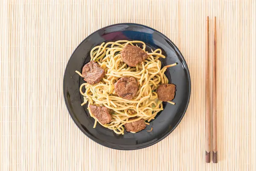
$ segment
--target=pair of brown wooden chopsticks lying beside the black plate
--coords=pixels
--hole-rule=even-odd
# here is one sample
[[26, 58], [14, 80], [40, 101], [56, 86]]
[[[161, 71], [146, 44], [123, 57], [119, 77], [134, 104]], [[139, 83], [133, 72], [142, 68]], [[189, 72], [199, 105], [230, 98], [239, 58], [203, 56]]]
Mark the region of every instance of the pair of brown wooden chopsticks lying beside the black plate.
[[211, 125], [212, 125], [212, 162], [218, 162], [217, 139], [217, 91], [216, 91], [216, 17], [214, 17], [214, 55], [213, 55], [213, 80], [212, 80], [212, 124], [210, 114], [210, 75], [209, 75], [209, 17], [207, 17], [207, 41], [206, 41], [206, 114], [205, 114], [205, 160], [211, 162]]

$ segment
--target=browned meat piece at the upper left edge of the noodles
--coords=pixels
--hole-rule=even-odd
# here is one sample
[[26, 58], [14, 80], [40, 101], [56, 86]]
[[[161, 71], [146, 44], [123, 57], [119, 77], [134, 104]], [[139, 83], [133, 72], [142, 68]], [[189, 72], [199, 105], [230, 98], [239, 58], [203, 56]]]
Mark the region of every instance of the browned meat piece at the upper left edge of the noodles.
[[100, 80], [105, 76], [105, 71], [100, 68], [99, 64], [91, 61], [84, 65], [82, 75], [84, 77], [84, 81], [93, 85], [100, 82]]

